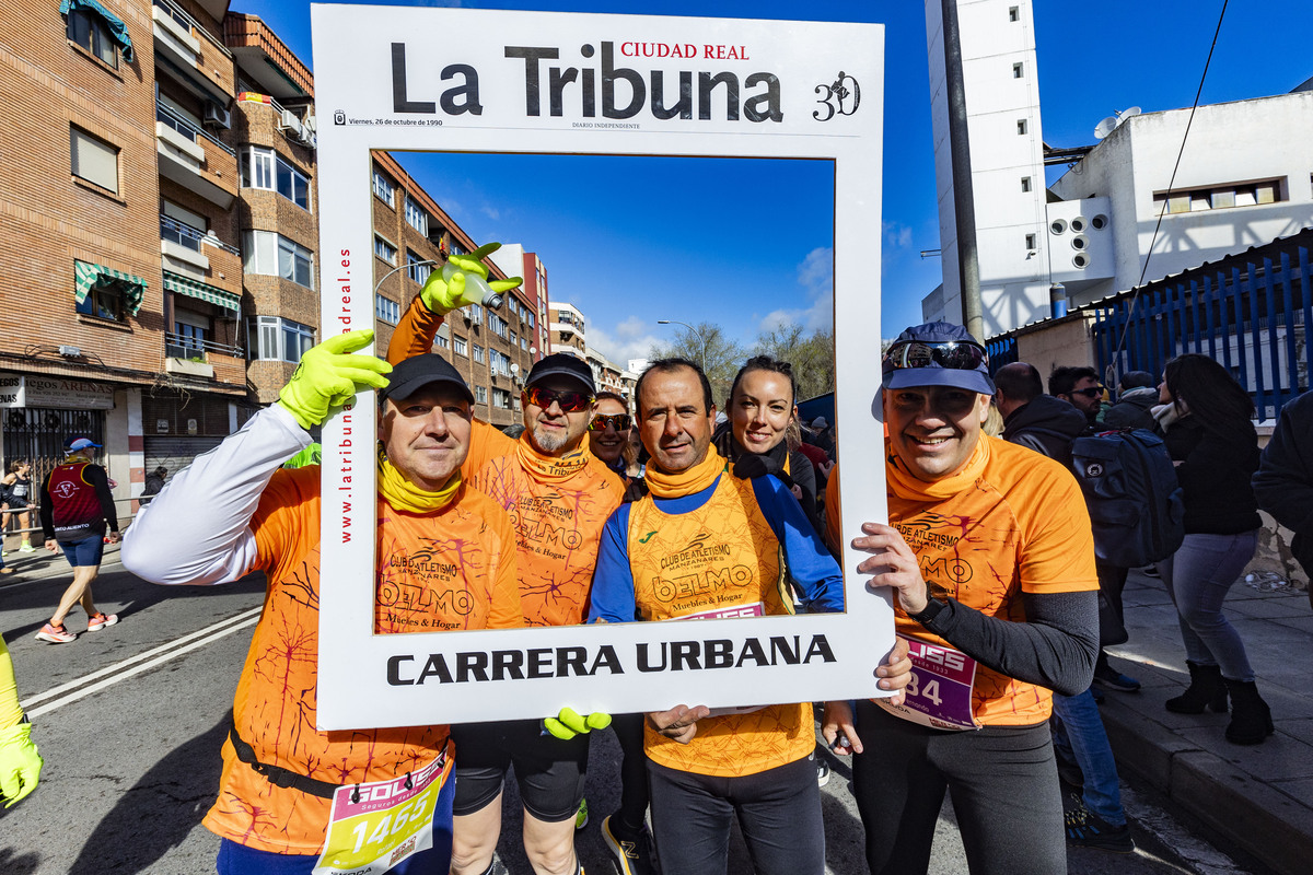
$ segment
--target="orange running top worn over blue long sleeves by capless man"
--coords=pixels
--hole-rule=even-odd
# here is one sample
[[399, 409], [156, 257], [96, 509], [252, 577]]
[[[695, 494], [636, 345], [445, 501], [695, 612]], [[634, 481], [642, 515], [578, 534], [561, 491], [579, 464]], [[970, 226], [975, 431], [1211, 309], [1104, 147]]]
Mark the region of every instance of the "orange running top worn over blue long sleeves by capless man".
[[[762, 513], [752, 480], [722, 475], [706, 504], [685, 513], [663, 513], [651, 496], [635, 501], [628, 548], [634, 603], [643, 619], [752, 605], [762, 614], [792, 613], [780, 592], [780, 542]], [[645, 722], [643, 748], [653, 762], [679, 771], [758, 774], [811, 753], [811, 704], [769, 704], [705, 718], [688, 744], [667, 739]]]

